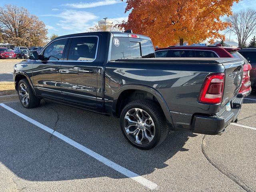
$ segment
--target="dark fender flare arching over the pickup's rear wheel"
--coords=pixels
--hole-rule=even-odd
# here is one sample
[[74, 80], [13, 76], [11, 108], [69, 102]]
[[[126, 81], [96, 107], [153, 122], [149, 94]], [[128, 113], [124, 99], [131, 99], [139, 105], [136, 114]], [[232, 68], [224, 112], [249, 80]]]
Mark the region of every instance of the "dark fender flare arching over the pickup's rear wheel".
[[133, 89], [133, 90], [142, 90], [142, 91], [145, 91], [145, 92], [148, 92], [150, 94], [152, 94], [153, 96], [156, 97], [156, 99], [158, 100], [159, 104], [160, 104], [160, 107], [162, 108], [163, 112], [164, 112], [164, 116], [166, 118], [166, 121], [168, 123], [168, 125], [171, 125], [173, 127], [173, 121], [172, 121], [172, 116], [170, 114], [170, 110], [163, 98], [163, 96], [160, 94], [160, 92], [158, 92], [158, 90], [152, 88], [152, 87], [149, 87], [149, 86], [145, 86], [145, 85], [140, 85], [140, 84], [126, 84], [126, 85], [123, 85], [121, 86], [116, 94], [114, 94], [114, 100], [113, 100], [113, 111], [116, 111], [116, 104], [117, 104], [117, 101], [118, 101], [118, 98], [120, 96], [120, 94], [125, 91], [125, 90], [129, 90], [129, 89]]

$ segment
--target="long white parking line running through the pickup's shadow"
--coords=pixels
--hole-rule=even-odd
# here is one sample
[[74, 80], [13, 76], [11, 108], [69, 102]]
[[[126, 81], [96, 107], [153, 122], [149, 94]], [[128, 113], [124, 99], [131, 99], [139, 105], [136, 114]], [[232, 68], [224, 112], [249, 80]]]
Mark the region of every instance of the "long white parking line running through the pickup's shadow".
[[24, 120], [34, 124], [35, 126], [38, 126], [39, 128], [47, 131], [48, 133], [50, 134], [53, 134], [54, 136], [56, 136], [57, 138], [63, 140], [64, 142], [74, 146], [75, 148], [81, 150], [82, 152], [90, 155], [91, 157], [95, 158], [96, 160], [102, 162], [103, 164], [105, 164], [106, 166], [109, 166], [110, 168], [116, 170], [117, 172], [127, 176], [128, 178], [131, 178], [133, 180], [135, 180], [136, 182], [146, 186], [147, 188], [153, 190], [157, 187], [157, 184], [153, 183], [152, 181], [150, 180], [147, 180], [145, 179], [144, 177], [142, 176], [139, 176], [138, 174], [112, 162], [111, 160], [101, 156], [100, 154], [90, 150], [89, 148], [86, 148], [85, 146], [82, 146], [81, 144], [75, 142], [74, 140], [60, 134], [59, 132], [57, 131], [54, 131], [53, 129], [41, 124], [40, 122], [37, 122], [36, 120], [33, 120], [32, 118], [14, 110], [13, 108], [10, 108], [9, 106], [3, 104], [3, 103], [0, 103], [0, 106], [2, 106], [3, 108], [9, 110], [10, 112], [18, 115], [19, 117], [23, 118]]

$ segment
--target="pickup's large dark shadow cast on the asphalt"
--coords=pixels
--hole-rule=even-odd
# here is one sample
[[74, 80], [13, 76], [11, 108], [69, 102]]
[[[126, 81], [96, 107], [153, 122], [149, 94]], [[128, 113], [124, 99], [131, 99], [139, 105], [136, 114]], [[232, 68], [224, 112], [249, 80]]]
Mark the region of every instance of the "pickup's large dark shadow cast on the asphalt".
[[[8, 105], [52, 129], [56, 126], [61, 134], [141, 176], [168, 166], [165, 162], [177, 152], [187, 151], [184, 144], [197, 136], [175, 132], [168, 134], [159, 147], [144, 151], [125, 140], [117, 118], [53, 102], [42, 102], [39, 108], [30, 110], [22, 108], [19, 102]], [[3, 117], [0, 121], [8, 122], [0, 126], [0, 161], [20, 178], [32, 181], [126, 178], [3, 108], [0, 116]]]

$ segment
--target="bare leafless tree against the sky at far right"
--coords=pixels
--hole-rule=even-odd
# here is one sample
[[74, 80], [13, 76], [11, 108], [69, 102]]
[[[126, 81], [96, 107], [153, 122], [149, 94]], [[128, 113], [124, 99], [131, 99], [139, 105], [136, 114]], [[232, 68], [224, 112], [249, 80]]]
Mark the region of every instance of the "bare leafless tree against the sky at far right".
[[246, 40], [256, 32], [256, 10], [248, 8], [226, 18], [231, 24], [227, 30], [234, 32], [238, 38], [238, 46], [246, 44]]

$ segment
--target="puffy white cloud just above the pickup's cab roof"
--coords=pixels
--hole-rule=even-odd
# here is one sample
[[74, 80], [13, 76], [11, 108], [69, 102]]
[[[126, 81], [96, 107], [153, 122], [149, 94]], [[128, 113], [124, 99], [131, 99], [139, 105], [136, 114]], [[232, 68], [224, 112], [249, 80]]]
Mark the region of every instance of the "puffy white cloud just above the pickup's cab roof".
[[86, 32], [91, 26], [93, 20], [98, 19], [98, 16], [85, 11], [64, 10], [60, 14], [44, 15], [55, 16], [61, 18], [56, 25], [64, 30], [73, 30], [74, 32]]

